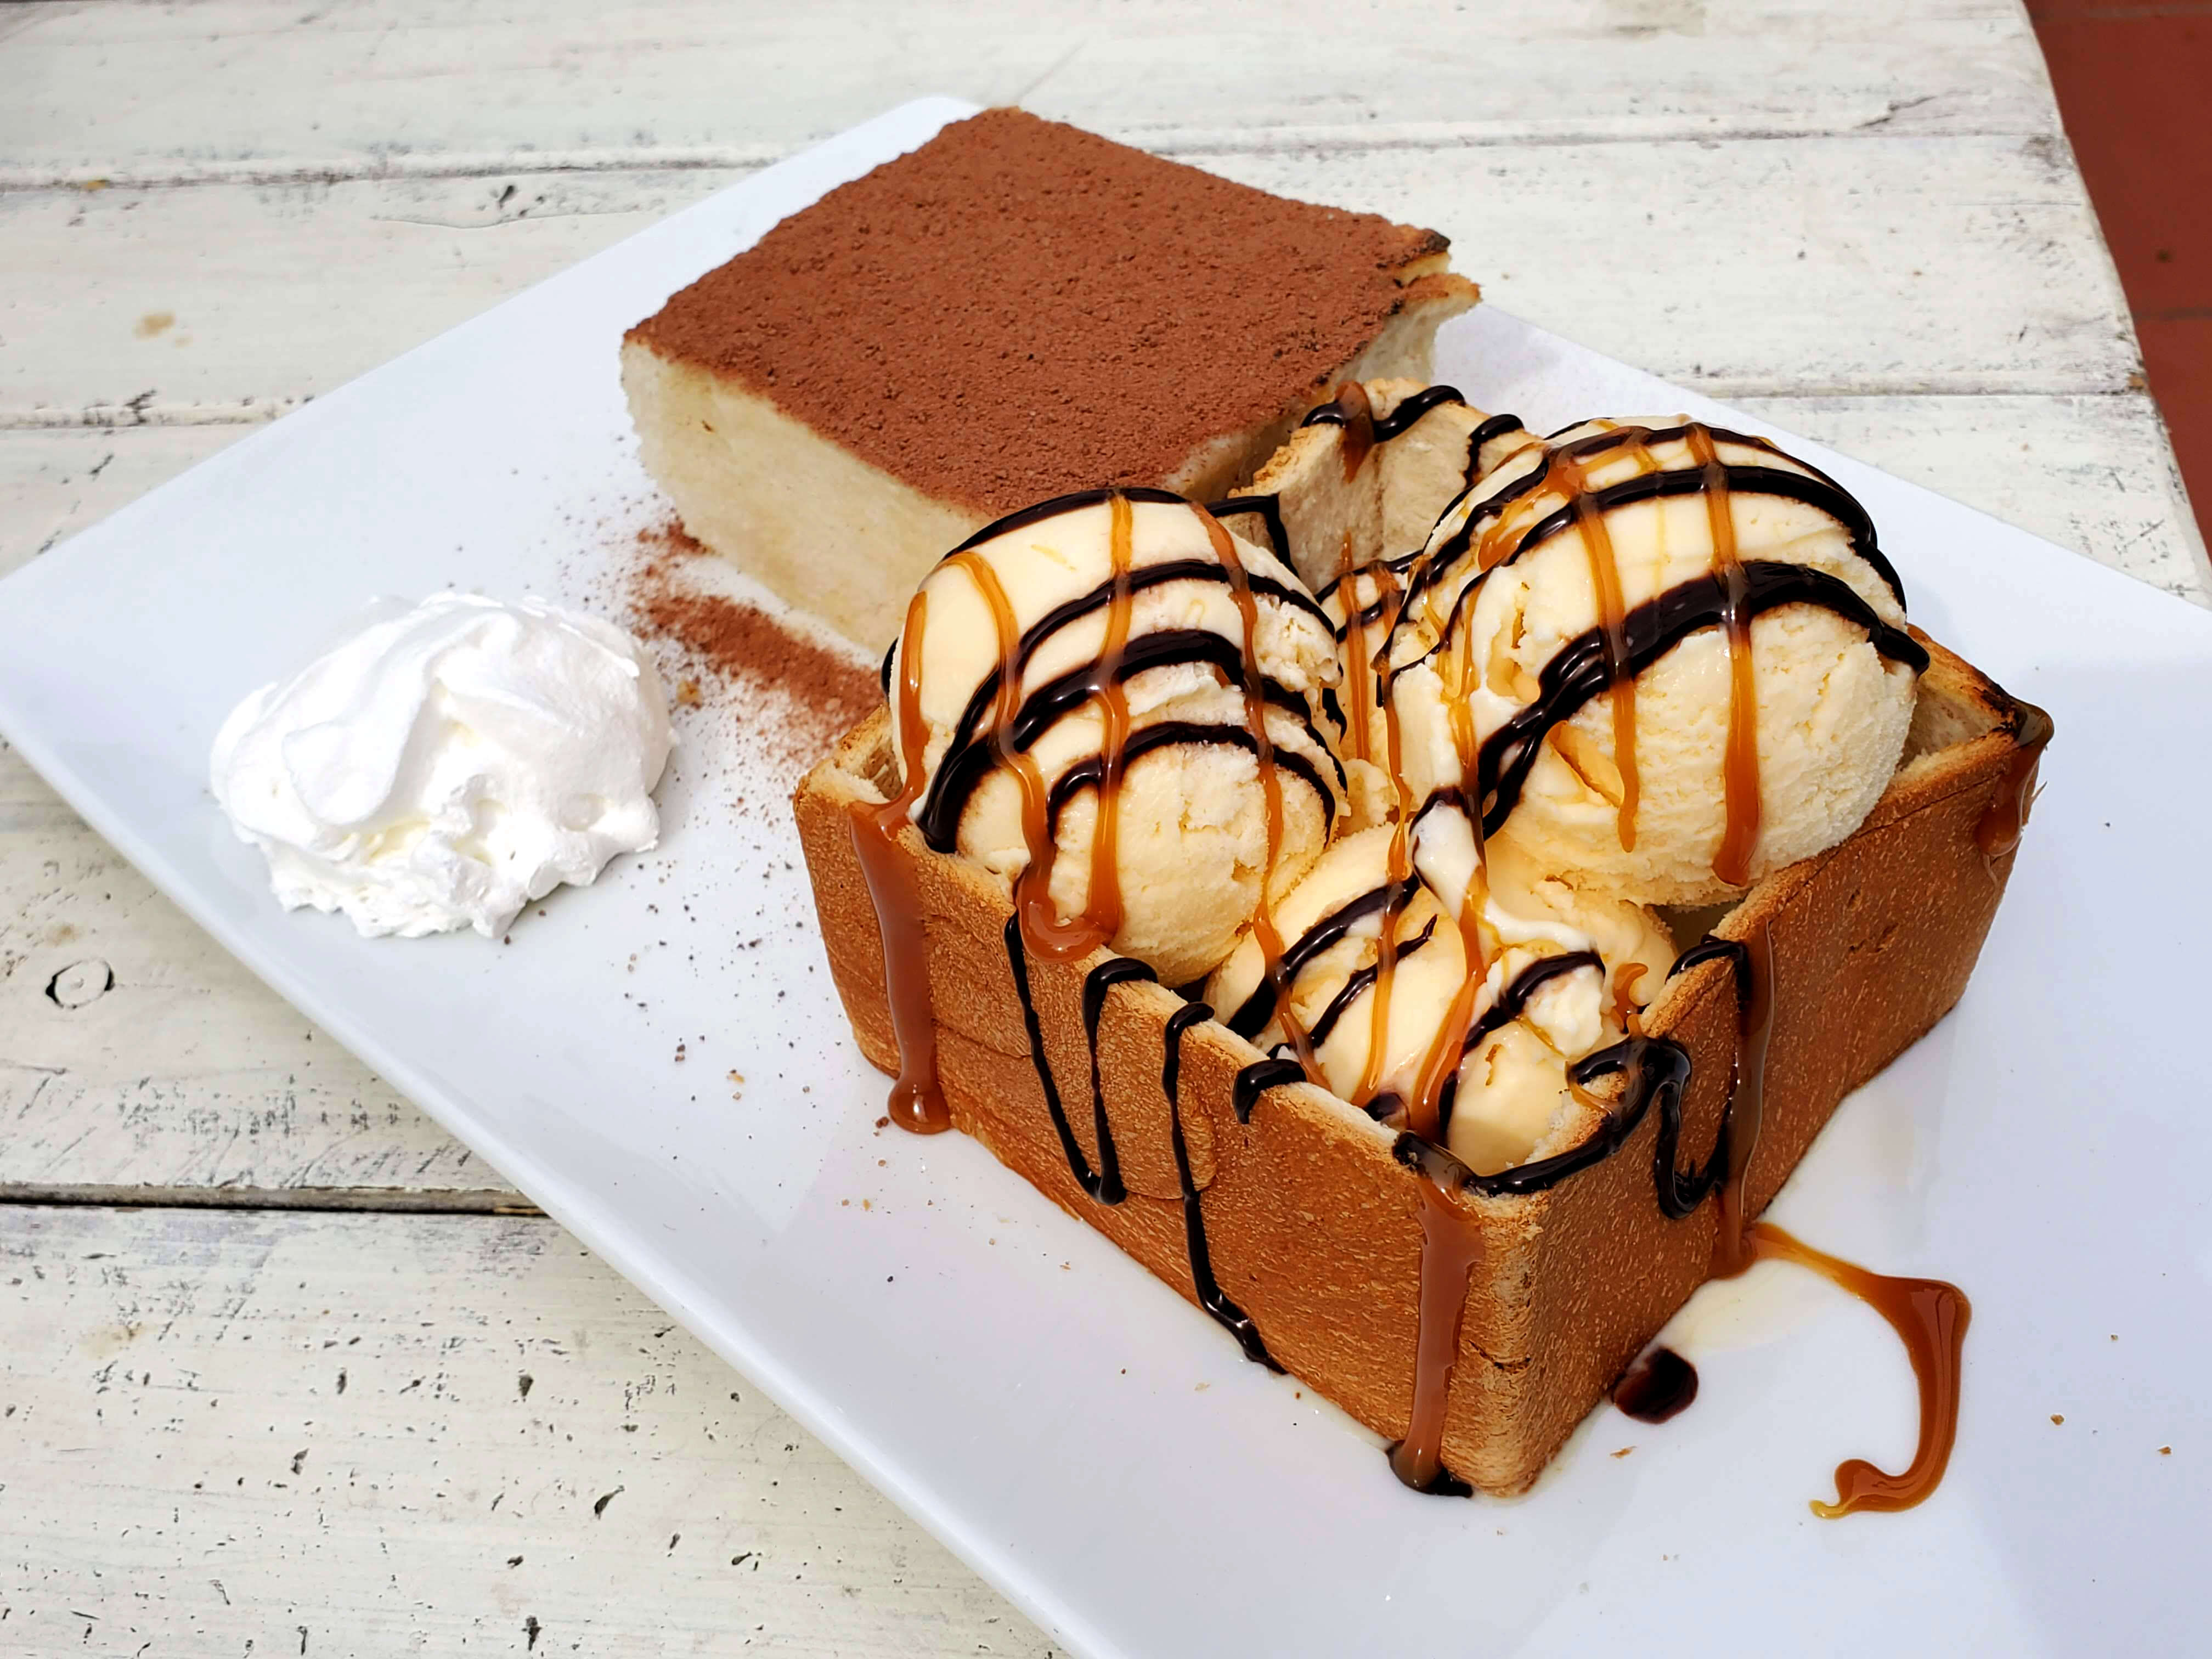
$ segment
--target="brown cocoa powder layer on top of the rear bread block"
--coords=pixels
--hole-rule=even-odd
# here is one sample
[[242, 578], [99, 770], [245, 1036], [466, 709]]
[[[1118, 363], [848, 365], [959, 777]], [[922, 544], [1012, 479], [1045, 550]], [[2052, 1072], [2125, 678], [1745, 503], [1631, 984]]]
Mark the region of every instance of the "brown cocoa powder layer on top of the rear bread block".
[[1161, 482], [1321, 394], [1444, 246], [995, 108], [785, 219], [630, 338], [1000, 515]]

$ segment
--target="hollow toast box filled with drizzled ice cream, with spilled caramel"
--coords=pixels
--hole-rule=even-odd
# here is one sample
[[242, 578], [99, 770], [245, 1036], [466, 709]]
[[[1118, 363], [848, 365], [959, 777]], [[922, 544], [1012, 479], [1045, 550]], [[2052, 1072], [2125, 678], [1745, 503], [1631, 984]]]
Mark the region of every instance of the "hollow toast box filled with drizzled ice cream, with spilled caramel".
[[1243, 498], [962, 540], [885, 690], [796, 810], [898, 1121], [982, 1139], [1418, 1489], [1524, 1489], [1759, 1256], [1867, 1294], [1933, 1402], [1823, 1513], [1931, 1489], [1964, 1298], [1756, 1217], [1964, 989], [2048, 721], [1907, 624], [1834, 480], [1347, 383]]

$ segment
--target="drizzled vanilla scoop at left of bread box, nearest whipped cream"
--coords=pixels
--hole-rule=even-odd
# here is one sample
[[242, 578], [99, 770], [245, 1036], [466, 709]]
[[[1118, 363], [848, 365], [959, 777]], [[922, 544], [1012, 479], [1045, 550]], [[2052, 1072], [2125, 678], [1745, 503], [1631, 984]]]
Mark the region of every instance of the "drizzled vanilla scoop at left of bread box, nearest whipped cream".
[[1013, 883], [1033, 949], [1110, 942], [1197, 980], [1343, 810], [1321, 606], [1166, 491], [1086, 491], [978, 531], [909, 608], [887, 684], [909, 670], [914, 821]]

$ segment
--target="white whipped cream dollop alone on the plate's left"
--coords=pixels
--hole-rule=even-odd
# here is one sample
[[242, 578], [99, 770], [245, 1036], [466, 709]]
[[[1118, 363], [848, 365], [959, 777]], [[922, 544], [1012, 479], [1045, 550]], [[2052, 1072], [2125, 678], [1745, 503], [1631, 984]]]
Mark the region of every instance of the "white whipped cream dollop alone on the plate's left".
[[440, 593], [241, 701], [210, 785], [285, 909], [493, 938], [659, 838], [668, 699], [619, 628]]

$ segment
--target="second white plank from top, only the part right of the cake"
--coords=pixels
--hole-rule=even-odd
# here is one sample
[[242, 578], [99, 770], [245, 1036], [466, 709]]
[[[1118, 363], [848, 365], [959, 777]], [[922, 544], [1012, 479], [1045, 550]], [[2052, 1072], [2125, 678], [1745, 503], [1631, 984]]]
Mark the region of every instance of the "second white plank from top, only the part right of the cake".
[[1491, 303], [1717, 398], [2119, 392], [2141, 369], [2059, 139], [1194, 159], [1438, 226]]

